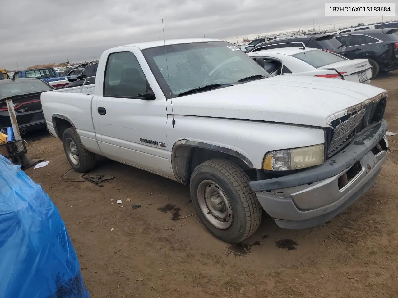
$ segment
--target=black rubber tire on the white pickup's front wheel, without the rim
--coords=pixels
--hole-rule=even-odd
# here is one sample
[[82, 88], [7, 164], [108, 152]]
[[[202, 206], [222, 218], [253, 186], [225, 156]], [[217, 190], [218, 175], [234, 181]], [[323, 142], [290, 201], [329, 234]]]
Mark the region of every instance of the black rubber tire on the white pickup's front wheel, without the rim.
[[[218, 184], [228, 198], [230, 210], [232, 210], [232, 221], [228, 228], [217, 228], [207, 219], [207, 217], [213, 216], [210, 215], [210, 211], [207, 212], [207, 215], [202, 212], [198, 200], [198, 189], [200, 190], [201, 185], [208, 184], [205, 182], [206, 180]], [[249, 181], [248, 175], [238, 165], [226, 159], [205, 161], [192, 172], [189, 184], [195, 211], [207, 230], [222, 241], [232, 244], [239, 243], [256, 232], [261, 223], [262, 208], [256, 194], [250, 188]], [[199, 191], [199, 193], [201, 192]], [[206, 194], [206, 190], [204, 194]], [[213, 220], [215, 220], [214, 216]]]

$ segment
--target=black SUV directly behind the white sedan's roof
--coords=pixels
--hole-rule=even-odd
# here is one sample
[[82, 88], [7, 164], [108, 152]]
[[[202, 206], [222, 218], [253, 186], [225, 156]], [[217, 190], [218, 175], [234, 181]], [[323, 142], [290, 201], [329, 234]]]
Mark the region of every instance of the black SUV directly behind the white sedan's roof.
[[276, 39], [273, 41], [265, 41], [259, 43], [248, 52], [256, 52], [260, 50], [268, 50], [272, 48], [297, 48], [306, 45], [308, 48], [320, 48], [339, 55], [345, 54], [345, 46], [334, 38], [333, 34], [328, 35], [303, 35], [298, 37], [289, 37], [285, 39]]

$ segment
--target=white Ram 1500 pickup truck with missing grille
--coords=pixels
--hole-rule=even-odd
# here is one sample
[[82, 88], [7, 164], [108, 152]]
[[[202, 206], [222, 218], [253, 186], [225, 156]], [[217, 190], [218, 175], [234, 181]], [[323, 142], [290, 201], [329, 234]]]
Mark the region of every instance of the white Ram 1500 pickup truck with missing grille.
[[44, 92], [41, 104], [76, 171], [101, 155], [189, 184], [206, 228], [237, 243], [262, 209], [282, 228], [311, 228], [367, 191], [387, 157], [386, 97], [270, 77], [230, 43], [181, 39], [106, 50], [95, 85]]

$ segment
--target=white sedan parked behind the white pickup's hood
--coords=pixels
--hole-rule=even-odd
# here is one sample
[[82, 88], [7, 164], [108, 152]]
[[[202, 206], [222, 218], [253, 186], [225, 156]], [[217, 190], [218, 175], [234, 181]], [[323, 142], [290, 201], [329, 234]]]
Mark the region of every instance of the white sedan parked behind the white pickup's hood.
[[[372, 77], [367, 59], [349, 60], [317, 48], [275, 48], [248, 53], [272, 76], [309, 75], [369, 84]], [[262, 60], [264, 63], [262, 63]]]

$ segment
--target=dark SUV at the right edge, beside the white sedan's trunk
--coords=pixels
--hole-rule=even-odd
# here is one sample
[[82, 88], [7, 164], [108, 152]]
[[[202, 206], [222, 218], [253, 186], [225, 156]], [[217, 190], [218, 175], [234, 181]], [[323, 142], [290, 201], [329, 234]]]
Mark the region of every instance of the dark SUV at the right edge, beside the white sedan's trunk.
[[340, 33], [335, 38], [347, 48], [347, 58], [368, 58], [372, 77], [380, 70], [398, 69], [398, 28]]

